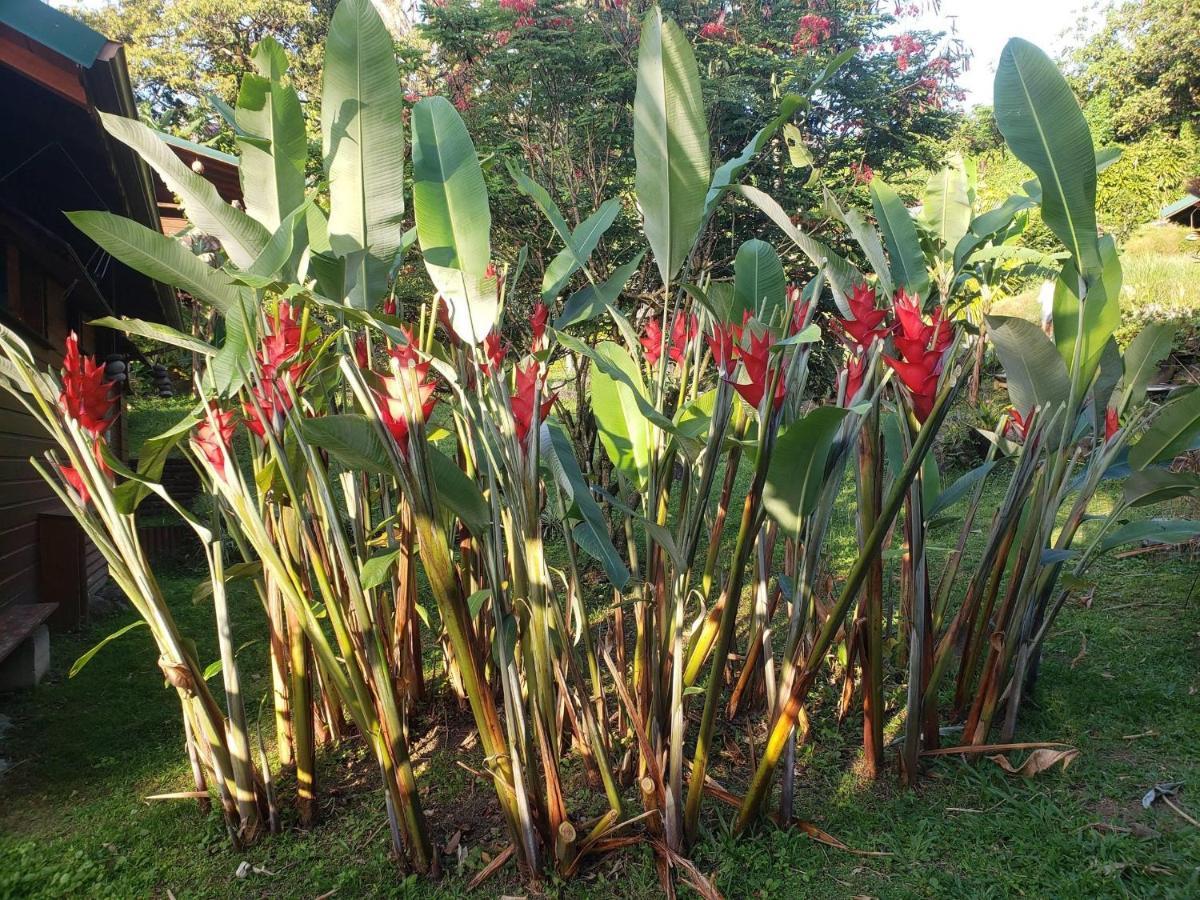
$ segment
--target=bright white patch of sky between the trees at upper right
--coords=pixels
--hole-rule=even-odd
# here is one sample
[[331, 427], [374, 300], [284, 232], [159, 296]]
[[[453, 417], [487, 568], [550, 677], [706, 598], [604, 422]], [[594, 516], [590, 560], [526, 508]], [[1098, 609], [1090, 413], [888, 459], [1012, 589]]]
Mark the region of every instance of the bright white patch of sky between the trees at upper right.
[[954, 31], [973, 52], [971, 68], [961, 78], [970, 108], [991, 103], [996, 65], [1009, 37], [1024, 37], [1056, 56], [1067, 43], [1063, 34], [1074, 31], [1092, 6], [1084, 0], [942, 0], [941, 8], [925, 13], [918, 26]]

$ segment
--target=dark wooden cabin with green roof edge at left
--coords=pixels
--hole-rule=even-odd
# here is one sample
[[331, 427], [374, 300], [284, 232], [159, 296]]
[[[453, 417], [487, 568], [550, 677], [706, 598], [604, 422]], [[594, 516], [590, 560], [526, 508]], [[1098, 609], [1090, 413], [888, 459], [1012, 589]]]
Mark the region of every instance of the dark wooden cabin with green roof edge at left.
[[[182, 227], [169, 191], [107, 136], [100, 112], [137, 116], [121, 46], [41, 0], [0, 0], [0, 322], [55, 367], [71, 330], [101, 360], [132, 349], [119, 334], [88, 324], [97, 317], [180, 325], [174, 289], [116, 262], [64, 216], [104, 209], [161, 228], [163, 211], [173, 214], [168, 233]], [[235, 198], [234, 157], [173, 146], [188, 164], [200, 160], [220, 172], [222, 193]], [[122, 426], [119, 418], [109, 442], [126, 454]], [[19, 403], [0, 394], [0, 688], [41, 676], [43, 623], [78, 624], [107, 577], [100, 554], [29, 464], [49, 445]]]

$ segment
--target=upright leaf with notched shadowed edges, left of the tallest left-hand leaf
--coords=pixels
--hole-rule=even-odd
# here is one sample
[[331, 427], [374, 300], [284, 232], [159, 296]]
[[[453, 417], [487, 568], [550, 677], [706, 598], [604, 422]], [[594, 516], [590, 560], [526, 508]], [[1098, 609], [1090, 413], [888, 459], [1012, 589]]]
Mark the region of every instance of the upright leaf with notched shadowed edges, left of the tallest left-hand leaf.
[[234, 110], [241, 162], [238, 174], [246, 211], [275, 230], [304, 203], [304, 167], [308, 146], [295, 88], [283, 83], [287, 54], [272, 37], [254, 47], [257, 72], [242, 76]]

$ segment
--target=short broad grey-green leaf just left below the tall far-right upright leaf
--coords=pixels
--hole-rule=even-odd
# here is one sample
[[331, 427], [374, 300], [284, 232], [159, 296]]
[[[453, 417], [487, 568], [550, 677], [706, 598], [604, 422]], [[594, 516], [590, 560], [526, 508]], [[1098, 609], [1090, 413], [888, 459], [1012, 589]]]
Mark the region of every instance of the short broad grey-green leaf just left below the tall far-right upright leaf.
[[989, 316], [988, 336], [1008, 377], [1008, 396], [1022, 416], [1033, 407], [1052, 414], [1068, 401], [1067, 366], [1040, 328], [1026, 319]]

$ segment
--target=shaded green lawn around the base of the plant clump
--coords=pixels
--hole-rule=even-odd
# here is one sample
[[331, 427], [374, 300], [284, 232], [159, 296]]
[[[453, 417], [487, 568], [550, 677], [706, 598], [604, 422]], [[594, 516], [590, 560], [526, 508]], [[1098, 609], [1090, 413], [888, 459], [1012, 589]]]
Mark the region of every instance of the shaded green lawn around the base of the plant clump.
[[[1108, 560], [1091, 601], [1073, 600], [1064, 612], [1018, 739], [1078, 748], [1066, 772], [1025, 780], [986, 760], [946, 757], [916, 792], [890, 773], [864, 784], [853, 774], [860, 722], [851, 715], [839, 728], [827, 692], [816, 700], [815, 745], [800, 756], [798, 815], [863, 853], [774, 827], [734, 842], [725, 811], [713, 810], [696, 863], [730, 898], [1200, 895], [1200, 829], [1165, 806], [1141, 805], [1152, 785], [1182, 781], [1183, 806], [1200, 810], [1198, 572], [1177, 556]], [[185, 630], [200, 637], [202, 659], [214, 659], [204, 643], [211, 612], [191, 601], [200, 577], [175, 570], [163, 581]], [[233, 602], [235, 625], [258, 630], [258, 601], [241, 593]], [[284, 834], [239, 852], [216, 812], [144, 799], [191, 786], [178, 703], [149, 636], [134, 630], [67, 678], [80, 653], [132, 620], [124, 612], [56, 636], [47, 680], [0, 701], [0, 896], [458, 896], [503, 848], [491, 787], [460, 766], [479, 766], [466, 719], [440, 695], [412, 722], [436, 839], [458, 848], [438, 882], [397, 872], [377, 779], [353, 740], [323, 757], [320, 822], [307, 834], [288, 822]], [[244, 683], [260, 694], [264, 648], [245, 648], [241, 661]], [[256, 698], [252, 716], [257, 708]], [[726, 734], [724, 752], [726, 761], [748, 752], [745, 736]], [[587, 791], [582, 781], [575, 790]], [[290, 785], [281, 791], [290, 812]], [[542, 889], [658, 895], [647, 847]], [[510, 868], [476, 893], [527, 890]]]

